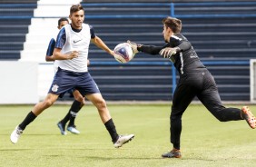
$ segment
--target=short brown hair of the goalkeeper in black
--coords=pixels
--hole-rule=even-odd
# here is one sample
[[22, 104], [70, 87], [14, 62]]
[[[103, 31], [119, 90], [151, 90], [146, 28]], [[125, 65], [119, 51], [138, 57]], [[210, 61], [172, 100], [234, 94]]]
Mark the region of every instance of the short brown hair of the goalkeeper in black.
[[174, 34], [181, 33], [182, 31], [182, 20], [180, 19], [168, 16], [162, 20], [162, 24], [171, 28]]

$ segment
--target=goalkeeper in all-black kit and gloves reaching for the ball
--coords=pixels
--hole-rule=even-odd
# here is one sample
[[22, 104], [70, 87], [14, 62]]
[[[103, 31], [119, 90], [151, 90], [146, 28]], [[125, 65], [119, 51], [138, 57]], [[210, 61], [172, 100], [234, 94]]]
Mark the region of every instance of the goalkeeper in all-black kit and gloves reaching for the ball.
[[127, 41], [133, 53], [160, 54], [174, 64], [180, 74], [180, 80], [172, 99], [170, 115], [170, 133], [172, 149], [162, 154], [163, 158], [181, 158], [182, 114], [196, 96], [202, 104], [221, 122], [245, 120], [255, 128], [255, 117], [248, 106], [226, 108], [222, 105], [217, 85], [212, 74], [202, 64], [192, 44], [181, 34], [182, 21], [166, 17], [162, 20], [164, 46], [135, 44]]

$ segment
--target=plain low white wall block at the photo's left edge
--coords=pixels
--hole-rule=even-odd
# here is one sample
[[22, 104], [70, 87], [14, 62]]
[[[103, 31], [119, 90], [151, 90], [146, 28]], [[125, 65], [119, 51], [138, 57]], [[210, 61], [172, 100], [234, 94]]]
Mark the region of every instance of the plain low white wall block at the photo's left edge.
[[0, 103], [37, 103], [37, 68], [35, 62], [0, 61]]

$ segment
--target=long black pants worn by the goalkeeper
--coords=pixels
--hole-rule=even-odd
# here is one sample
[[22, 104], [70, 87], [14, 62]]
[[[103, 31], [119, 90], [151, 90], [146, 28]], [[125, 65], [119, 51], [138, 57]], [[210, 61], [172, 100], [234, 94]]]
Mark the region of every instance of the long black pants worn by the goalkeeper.
[[217, 85], [208, 70], [182, 74], [173, 94], [170, 116], [171, 142], [176, 149], [180, 149], [182, 114], [195, 96], [219, 121], [242, 120], [241, 109], [222, 105]]

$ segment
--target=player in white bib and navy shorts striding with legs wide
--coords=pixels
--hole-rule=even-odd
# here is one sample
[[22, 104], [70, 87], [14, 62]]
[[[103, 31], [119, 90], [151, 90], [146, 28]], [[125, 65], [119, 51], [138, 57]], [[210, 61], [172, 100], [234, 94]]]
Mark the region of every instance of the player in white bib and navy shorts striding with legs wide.
[[34, 105], [33, 110], [27, 114], [25, 120], [15, 127], [11, 133], [11, 142], [16, 143], [24, 132], [25, 127], [34, 121], [46, 108], [50, 107], [62, 93], [70, 89], [77, 89], [90, 100], [100, 114], [102, 122], [112, 138], [115, 148], [133, 139], [134, 134], [119, 135], [116, 132], [113, 119], [106, 106], [102, 94], [87, 70], [87, 56], [90, 41], [99, 48], [113, 55], [113, 50], [103, 43], [101, 38], [94, 34], [90, 25], [84, 24], [84, 8], [82, 5], [72, 5], [70, 8], [71, 25], [64, 25], [60, 30], [54, 48], [54, 60], [59, 67], [49, 93], [43, 102]]

